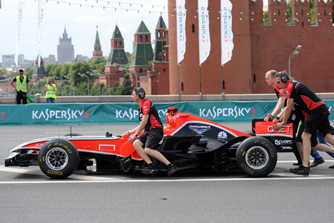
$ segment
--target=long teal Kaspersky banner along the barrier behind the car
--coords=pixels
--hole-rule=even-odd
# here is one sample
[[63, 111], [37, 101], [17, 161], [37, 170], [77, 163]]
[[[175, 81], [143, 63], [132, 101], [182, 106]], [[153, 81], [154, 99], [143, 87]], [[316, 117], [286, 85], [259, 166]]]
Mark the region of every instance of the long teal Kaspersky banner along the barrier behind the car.
[[[277, 101], [196, 101], [156, 103], [161, 121], [166, 123], [169, 106], [178, 112], [195, 114], [213, 122], [251, 122], [265, 117]], [[334, 100], [325, 100], [334, 114]], [[334, 115], [330, 115], [334, 121]], [[76, 125], [76, 124], [138, 124], [138, 104], [21, 104], [0, 105], [0, 125]]]

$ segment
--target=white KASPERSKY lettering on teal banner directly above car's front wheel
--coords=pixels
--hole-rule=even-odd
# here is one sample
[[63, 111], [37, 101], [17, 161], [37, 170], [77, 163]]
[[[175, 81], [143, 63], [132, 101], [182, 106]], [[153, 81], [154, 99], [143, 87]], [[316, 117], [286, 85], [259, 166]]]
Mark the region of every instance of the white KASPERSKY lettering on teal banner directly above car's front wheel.
[[[83, 116], [84, 114], [84, 116]], [[88, 110], [51, 110], [46, 109], [45, 111], [32, 111], [32, 119], [82, 119], [88, 118], [89, 112]]]

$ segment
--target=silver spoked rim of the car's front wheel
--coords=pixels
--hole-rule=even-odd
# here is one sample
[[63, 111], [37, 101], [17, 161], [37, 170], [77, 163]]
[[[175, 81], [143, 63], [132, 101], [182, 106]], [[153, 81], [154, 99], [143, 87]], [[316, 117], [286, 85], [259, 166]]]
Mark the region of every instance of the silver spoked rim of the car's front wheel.
[[46, 154], [46, 163], [50, 169], [61, 170], [64, 169], [69, 162], [69, 156], [66, 151], [61, 148], [50, 149]]

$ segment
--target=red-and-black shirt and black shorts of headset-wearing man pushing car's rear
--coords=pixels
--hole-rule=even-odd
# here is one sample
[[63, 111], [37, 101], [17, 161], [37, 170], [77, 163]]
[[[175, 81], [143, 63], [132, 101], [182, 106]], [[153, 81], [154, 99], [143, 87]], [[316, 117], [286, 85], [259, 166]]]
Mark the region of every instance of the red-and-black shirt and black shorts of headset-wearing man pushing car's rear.
[[289, 80], [286, 97], [293, 99], [305, 116], [303, 132], [316, 134], [318, 129], [323, 136], [328, 133], [333, 134], [333, 128], [330, 127], [328, 119], [330, 114], [328, 107], [308, 86], [298, 81]]

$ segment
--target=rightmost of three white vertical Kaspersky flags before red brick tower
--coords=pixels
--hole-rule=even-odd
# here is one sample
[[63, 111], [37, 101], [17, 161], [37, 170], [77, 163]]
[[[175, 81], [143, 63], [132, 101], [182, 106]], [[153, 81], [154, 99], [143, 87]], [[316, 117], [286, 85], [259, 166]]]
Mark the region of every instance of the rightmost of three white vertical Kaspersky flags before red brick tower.
[[221, 64], [231, 60], [233, 51], [232, 3], [221, 0]]

